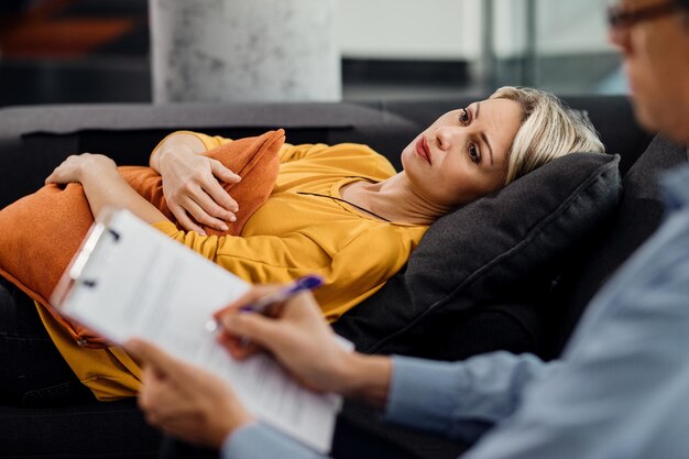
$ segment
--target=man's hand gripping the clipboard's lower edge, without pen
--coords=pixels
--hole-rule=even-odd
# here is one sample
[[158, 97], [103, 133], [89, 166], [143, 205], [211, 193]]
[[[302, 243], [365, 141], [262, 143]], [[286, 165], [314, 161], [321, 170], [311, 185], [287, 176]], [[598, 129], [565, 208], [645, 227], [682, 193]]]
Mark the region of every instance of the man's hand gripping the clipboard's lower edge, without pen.
[[166, 434], [219, 449], [228, 435], [254, 420], [214, 374], [145, 341], [130, 340], [125, 349], [142, 362], [139, 406], [146, 420]]

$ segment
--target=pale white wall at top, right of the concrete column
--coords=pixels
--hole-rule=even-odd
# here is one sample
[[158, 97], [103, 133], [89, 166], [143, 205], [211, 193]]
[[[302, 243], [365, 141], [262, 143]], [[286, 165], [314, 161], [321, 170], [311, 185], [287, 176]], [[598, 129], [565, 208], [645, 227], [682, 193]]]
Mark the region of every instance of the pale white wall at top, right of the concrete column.
[[[336, 37], [344, 57], [474, 59], [483, 0], [339, 0]], [[538, 52], [589, 53], [606, 44], [602, 0], [539, 0]], [[495, 0], [499, 57], [524, 48], [525, 1]]]

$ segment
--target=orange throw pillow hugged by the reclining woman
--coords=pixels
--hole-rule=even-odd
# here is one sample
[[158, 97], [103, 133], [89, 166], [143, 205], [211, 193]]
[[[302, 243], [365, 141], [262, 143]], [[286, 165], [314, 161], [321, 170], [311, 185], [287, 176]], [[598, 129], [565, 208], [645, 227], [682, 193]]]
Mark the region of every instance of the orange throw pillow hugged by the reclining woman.
[[[239, 203], [237, 221], [228, 222], [229, 230], [225, 232], [201, 226], [208, 234], [240, 234], [249, 217], [273, 189], [280, 167], [277, 152], [284, 141], [285, 132], [280, 129], [239, 139], [205, 153], [242, 177], [238, 184], [223, 184]], [[176, 223], [163, 196], [162, 178], [155, 171], [143, 166], [118, 170], [141, 196]], [[46, 307], [77, 342], [102, 347], [106, 346], [102, 338], [65, 319], [48, 304], [92, 222], [94, 216], [80, 184], [46, 185], [19, 199], [0, 210], [0, 275]]]

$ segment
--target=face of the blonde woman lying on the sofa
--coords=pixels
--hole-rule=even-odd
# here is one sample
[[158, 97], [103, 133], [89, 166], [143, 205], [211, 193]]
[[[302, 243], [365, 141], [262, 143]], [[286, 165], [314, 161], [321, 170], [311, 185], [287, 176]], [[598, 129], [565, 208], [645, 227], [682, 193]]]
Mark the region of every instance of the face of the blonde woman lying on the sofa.
[[426, 199], [455, 207], [500, 188], [522, 106], [489, 99], [448, 111], [402, 151], [412, 185]]

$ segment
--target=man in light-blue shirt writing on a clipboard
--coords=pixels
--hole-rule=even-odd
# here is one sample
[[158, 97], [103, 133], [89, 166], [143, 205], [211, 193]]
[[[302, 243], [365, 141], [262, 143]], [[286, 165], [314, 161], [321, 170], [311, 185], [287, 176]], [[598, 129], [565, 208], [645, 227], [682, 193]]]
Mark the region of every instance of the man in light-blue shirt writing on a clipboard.
[[[689, 0], [623, 0], [611, 10], [638, 120], [689, 144]], [[225, 343], [262, 347], [308, 386], [384, 406], [396, 423], [473, 440], [464, 459], [689, 457], [689, 170], [665, 179], [661, 228], [602, 288], [562, 357], [495, 352], [445, 363], [346, 351], [304, 294], [277, 317], [222, 318]], [[270, 288], [269, 288], [270, 289]], [[250, 347], [242, 338], [251, 339]], [[318, 458], [255, 420], [225, 383], [132, 341], [144, 362], [140, 404], [166, 433], [223, 458]]]

